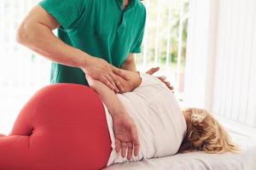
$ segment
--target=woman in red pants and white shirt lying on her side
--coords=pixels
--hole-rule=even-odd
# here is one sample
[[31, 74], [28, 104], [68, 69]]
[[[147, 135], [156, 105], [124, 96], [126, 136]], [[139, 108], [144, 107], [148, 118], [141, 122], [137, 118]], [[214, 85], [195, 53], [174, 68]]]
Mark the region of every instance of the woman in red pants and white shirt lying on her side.
[[[209, 134], [209, 126], [220, 128], [216, 128], [218, 123], [207, 116], [209, 123], [203, 124], [206, 127], [204, 131], [201, 127], [204, 120], [199, 122], [198, 118], [203, 117], [203, 111], [195, 110], [199, 111], [199, 116], [194, 115], [195, 120], [191, 121], [189, 117], [193, 117], [193, 112], [189, 112], [192, 113], [190, 115], [186, 113], [185, 121], [176, 99], [164, 82], [143, 73], [126, 73], [132, 77], [129, 87], [133, 88], [125, 87], [125, 94], [114, 94], [102, 82], [90, 77], [87, 77], [90, 86], [100, 98], [90, 88], [77, 84], [56, 84], [38, 91], [20, 112], [9, 136], [0, 137], [0, 169], [94, 170], [127, 159], [139, 161], [171, 156], [182, 144], [186, 123], [193, 129], [190, 122], [200, 128], [186, 135], [186, 139], [193, 137], [196, 147], [201, 148], [205, 144], [213, 151], [236, 149], [223, 129], [212, 131], [211, 138], [207, 138], [205, 134]], [[130, 117], [130, 123], [136, 124], [139, 139], [127, 139], [120, 145], [119, 133], [113, 136], [116, 130], [112, 122], [114, 115]], [[216, 138], [212, 138], [214, 134], [218, 134]], [[218, 138], [219, 134], [222, 138]], [[123, 157], [127, 148], [126, 159]], [[134, 156], [131, 153], [133, 148]]]

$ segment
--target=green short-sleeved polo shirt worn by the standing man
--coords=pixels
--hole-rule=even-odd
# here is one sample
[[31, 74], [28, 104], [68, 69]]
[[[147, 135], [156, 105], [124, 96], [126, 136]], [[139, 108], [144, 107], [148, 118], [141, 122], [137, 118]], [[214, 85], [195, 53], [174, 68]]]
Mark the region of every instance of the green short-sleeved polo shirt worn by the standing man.
[[[85, 53], [120, 67], [127, 56], [141, 52], [146, 9], [139, 0], [44, 0], [39, 3], [61, 27], [58, 37]], [[51, 83], [88, 85], [84, 72], [67, 65], [52, 64]]]

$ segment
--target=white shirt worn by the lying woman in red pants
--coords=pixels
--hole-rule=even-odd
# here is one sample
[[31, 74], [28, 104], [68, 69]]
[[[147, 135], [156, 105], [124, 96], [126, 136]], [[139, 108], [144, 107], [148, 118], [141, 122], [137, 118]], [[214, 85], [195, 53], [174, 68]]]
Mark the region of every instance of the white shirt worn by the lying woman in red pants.
[[[117, 94], [137, 126], [140, 141], [138, 156], [131, 161], [172, 156], [177, 153], [186, 133], [186, 123], [177, 105], [177, 100], [166, 84], [157, 77], [140, 72], [142, 83], [132, 92]], [[108, 130], [112, 142], [112, 152], [108, 165], [128, 161], [116, 153], [113, 133], [113, 119], [104, 105], [108, 121]]]

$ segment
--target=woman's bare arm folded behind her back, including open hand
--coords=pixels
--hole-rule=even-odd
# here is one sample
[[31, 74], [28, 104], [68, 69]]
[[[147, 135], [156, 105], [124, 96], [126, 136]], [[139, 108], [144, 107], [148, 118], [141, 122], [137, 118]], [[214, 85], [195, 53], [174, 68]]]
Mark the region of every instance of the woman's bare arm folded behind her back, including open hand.
[[[125, 71], [131, 77], [129, 84], [125, 86], [125, 91], [131, 91], [137, 88], [142, 82], [137, 72]], [[124, 106], [119, 101], [116, 94], [102, 82], [96, 81], [86, 76], [90, 88], [93, 88], [99, 94], [103, 103], [108, 107], [109, 114], [113, 118], [113, 133], [115, 137], [115, 148], [118, 153], [121, 150], [121, 156], [125, 157], [127, 151], [127, 159], [131, 160], [132, 151], [137, 156], [140, 149], [140, 143], [137, 135], [137, 128], [131, 116], [125, 111]]]

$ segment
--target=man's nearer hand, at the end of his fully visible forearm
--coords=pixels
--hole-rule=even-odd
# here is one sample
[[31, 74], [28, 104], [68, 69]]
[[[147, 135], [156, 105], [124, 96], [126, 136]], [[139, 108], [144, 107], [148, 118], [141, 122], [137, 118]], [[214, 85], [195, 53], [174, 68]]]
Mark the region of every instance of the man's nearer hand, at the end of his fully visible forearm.
[[119, 93], [119, 91], [124, 89], [123, 84], [117, 77], [121, 77], [126, 81], [130, 79], [124, 71], [109, 65], [106, 60], [96, 57], [90, 57], [90, 60], [82, 70], [89, 77], [103, 82], [108, 88], [113, 89], [115, 93]]

